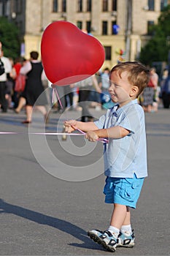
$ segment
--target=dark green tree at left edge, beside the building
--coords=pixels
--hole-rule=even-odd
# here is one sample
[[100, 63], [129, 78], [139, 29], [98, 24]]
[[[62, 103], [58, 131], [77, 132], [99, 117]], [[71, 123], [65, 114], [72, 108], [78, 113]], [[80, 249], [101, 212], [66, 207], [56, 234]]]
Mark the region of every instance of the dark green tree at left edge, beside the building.
[[14, 23], [4, 17], [0, 18], [0, 41], [4, 56], [13, 59], [20, 56], [20, 31]]

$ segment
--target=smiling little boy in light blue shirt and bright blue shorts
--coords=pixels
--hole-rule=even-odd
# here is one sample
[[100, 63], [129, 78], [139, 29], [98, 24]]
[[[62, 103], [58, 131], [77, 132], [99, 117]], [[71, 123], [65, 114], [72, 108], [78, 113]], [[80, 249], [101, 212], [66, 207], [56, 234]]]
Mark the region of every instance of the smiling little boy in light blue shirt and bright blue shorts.
[[114, 209], [108, 229], [88, 231], [88, 236], [109, 252], [115, 252], [117, 246], [134, 246], [130, 208], [136, 208], [147, 176], [144, 111], [137, 98], [148, 81], [149, 70], [142, 64], [117, 64], [111, 70], [109, 87], [115, 106], [95, 122], [65, 122], [66, 132], [81, 129], [92, 142], [108, 139], [104, 143], [104, 194], [105, 203], [112, 203]]

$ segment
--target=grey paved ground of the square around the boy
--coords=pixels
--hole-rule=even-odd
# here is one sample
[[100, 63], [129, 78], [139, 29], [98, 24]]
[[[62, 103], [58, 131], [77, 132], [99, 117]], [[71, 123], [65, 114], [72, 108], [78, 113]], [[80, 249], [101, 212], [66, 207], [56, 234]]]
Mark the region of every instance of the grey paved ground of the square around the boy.
[[[92, 111], [96, 116], [101, 114]], [[63, 120], [77, 115], [78, 111], [68, 111], [65, 116], [53, 112], [45, 131], [56, 132], [60, 123], [58, 131], [62, 132]], [[102, 143], [96, 143], [94, 150], [90, 148], [93, 153], [83, 151], [82, 155], [86, 148], [83, 136], [66, 141], [49, 136], [47, 145], [59, 159], [55, 165], [41, 144], [44, 138], [31, 137], [28, 127], [20, 124], [24, 118], [24, 112], [0, 114], [0, 132], [20, 133], [0, 135], [0, 255], [111, 255], [87, 236], [88, 230], [106, 229], [112, 214], [112, 206], [104, 203], [101, 163], [96, 167], [102, 158]], [[31, 124], [35, 129], [31, 131], [43, 131], [41, 122], [42, 117], [35, 113]], [[170, 110], [146, 114], [146, 127], [149, 177], [132, 211], [136, 245], [133, 249], [117, 248], [115, 255], [170, 253]], [[73, 143], [78, 157], [72, 151]], [[80, 167], [84, 181], [74, 181], [73, 167]], [[61, 170], [63, 179], [58, 178]], [[96, 173], [91, 178], [93, 171]]]

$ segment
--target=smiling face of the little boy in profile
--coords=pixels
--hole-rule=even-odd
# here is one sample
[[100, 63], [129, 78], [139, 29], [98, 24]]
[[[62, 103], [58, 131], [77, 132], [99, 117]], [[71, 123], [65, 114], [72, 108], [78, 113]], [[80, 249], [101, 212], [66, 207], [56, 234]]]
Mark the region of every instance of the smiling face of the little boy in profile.
[[117, 70], [110, 75], [111, 85], [109, 94], [112, 102], [119, 103], [120, 107], [131, 101], [131, 84], [128, 82], [128, 73], [122, 72], [121, 75]]

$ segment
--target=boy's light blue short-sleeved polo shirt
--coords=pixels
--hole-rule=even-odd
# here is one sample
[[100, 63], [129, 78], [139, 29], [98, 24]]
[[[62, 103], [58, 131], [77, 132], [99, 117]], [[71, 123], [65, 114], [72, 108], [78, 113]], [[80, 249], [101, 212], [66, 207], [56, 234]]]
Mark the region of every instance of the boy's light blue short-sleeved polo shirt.
[[144, 110], [137, 99], [122, 108], [115, 105], [104, 116], [95, 121], [98, 129], [120, 126], [128, 129], [127, 136], [109, 138], [104, 143], [104, 174], [109, 177], [137, 178], [147, 176], [147, 143]]

